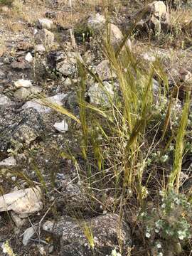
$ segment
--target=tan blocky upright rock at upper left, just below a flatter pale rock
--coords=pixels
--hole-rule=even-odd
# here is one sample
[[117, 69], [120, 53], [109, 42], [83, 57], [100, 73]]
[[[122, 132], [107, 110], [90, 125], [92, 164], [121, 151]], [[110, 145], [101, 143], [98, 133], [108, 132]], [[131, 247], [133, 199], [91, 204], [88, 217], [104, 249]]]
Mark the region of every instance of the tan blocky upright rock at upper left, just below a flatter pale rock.
[[35, 41], [37, 44], [42, 44], [50, 48], [54, 44], [54, 33], [48, 31], [46, 28], [39, 30], [35, 35]]

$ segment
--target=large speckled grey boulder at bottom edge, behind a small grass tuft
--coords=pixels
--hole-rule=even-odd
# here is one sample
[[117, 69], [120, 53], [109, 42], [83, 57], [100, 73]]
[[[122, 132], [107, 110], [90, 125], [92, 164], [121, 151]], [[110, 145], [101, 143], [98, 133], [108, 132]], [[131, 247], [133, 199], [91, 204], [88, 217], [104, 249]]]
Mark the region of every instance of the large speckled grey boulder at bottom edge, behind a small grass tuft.
[[[45, 224], [43, 227], [45, 228]], [[120, 224], [119, 216], [116, 214], [100, 215], [78, 223], [65, 216], [58, 223], [49, 222], [46, 228], [48, 227], [50, 230], [47, 231], [54, 235], [62, 234], [60, 256], [90, 256], [92, 250], [97, 256], [111, 255], [119, 242], [124, 252], [132, 243], [129, 226], [124, 220]], [[87, 230], [92, 234], [94, 248], [90, 247], [86, 238]]]

